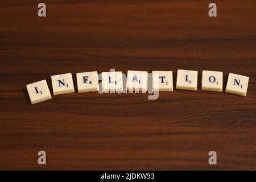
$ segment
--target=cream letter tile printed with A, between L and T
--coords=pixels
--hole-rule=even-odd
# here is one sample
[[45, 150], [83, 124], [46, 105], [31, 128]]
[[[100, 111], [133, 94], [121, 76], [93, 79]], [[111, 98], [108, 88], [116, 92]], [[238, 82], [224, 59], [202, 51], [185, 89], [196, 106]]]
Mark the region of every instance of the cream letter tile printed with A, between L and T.
[[143, 71], [128, 71], [126, 89], [130, 92], [147, 92], [148, 73]]

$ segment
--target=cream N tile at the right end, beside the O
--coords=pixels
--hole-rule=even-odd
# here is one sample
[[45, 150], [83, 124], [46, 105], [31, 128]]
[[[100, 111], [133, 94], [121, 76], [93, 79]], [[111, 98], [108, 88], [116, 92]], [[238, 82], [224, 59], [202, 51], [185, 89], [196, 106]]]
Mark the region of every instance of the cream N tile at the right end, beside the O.
[[249, 83], [249, 77], [229, 73], [228, 82], [226, 84], [226, 93], [237, 94], [238, 96], [246, 96]]

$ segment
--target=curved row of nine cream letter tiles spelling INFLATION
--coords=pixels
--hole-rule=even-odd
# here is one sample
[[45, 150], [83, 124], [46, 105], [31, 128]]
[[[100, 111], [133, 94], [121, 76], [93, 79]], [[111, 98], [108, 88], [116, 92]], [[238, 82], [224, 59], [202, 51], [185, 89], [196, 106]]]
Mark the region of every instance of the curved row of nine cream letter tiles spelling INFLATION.
[[[179, 69], [177, 71], [176, 89], [197, 90], [197, 71]], [[122, 72], [102, 72], [103, 92], [123, 92]], [[99, 90], [98, 72], [77, 73], [78, 92], [96, 92]], [[55, 75], [51, 77], [53, 95], [75, 92], [71, 73]], [[229, 73], [226, 85], [226, 93], [246, 96], [249, 77]], [[201, 90], [222, 92], [223, 73], [216, 71], [203, 71]], [[127, 91], [147, 92], [148, 73], [145, 71], [128, 71], [126, 89]], [[152, 90], [154, 92], [172, 92], [173, 77], [171, 71], [152, 72]], [[51, 93], [46, 80], [27, 85], [31, 104], [51, 99]]]

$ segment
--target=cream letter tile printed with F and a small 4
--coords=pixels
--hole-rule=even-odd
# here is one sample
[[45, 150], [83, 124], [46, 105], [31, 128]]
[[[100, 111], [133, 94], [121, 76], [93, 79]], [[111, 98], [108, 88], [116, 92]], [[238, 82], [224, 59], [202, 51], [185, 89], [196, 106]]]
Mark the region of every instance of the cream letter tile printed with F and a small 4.
[[98, 91], [98, 72], [84, 72], [76, 74], [78, 92]]

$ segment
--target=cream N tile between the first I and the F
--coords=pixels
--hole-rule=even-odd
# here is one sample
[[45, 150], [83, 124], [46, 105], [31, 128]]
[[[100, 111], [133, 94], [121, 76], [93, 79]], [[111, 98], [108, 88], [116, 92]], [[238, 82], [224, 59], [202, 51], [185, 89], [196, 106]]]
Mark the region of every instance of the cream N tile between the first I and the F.
[[52, 76], [53, 95], [75, 92], [71, 73]]

